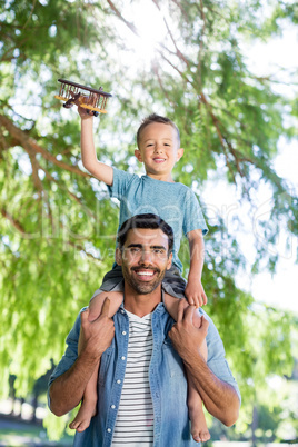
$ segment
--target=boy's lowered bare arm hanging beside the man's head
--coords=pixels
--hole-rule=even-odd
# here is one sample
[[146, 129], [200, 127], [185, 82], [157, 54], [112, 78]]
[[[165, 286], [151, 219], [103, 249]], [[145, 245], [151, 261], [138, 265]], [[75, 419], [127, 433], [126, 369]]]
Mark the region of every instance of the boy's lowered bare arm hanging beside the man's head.
[[207, 304], [207, 296], [201, 284], [203, 267], [205, 245], [201, 230], [192, 230], [187, 234], [190, 254], [190, 268], [186, 286], [186, 297], [190, 305], [201, 306]]

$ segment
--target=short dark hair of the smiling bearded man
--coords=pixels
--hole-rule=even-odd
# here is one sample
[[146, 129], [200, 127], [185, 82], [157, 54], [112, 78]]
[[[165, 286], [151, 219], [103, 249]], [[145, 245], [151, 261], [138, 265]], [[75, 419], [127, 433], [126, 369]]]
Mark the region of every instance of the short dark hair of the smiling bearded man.
[[165, 222], [161, 217], [149, 212], [146, 215], [133, 216], [121, 225], [117, 238], [120, 249], [126, 244], [128, 231], [133, 230], [135, 228], [148, 228], [151, 230], [161, 229], [161, 231], [163, 231], [165, 235], [168, 236], [169, 252], [171, 252], [173, 246], [172, 228], [167, 222]]

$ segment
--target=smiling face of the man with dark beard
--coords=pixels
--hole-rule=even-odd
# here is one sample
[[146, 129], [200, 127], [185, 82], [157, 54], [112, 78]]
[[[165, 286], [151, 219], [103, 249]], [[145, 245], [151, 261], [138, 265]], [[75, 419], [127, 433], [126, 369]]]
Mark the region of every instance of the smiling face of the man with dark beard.
[[168, 236], [160, 229], [129, 230], [122, 249], [117, 249], [117, 262], [123, 278], [139, 295], [148, 295], [162, 281], [171, 266]]

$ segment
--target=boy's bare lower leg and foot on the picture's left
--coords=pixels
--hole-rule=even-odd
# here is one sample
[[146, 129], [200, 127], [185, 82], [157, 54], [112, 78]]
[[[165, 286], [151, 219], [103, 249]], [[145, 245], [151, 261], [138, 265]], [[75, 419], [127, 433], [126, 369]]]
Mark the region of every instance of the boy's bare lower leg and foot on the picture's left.
[[[83, 336], [82, 336], [82, 330], [81, 330], [80, 338], [79, 338], [79, 346], [78, 346], [79, 354], [81, 351], [82, 342], [83, 342]], [[77, 416], [74, 417], [74, 419], [72, 420], [72, 423], [69, 424], [69, 428], [72, 428], [77, 431], [86, 430], [86, 428], [88, 428], [90, 425], [91, 417], [96, 415], [98, 368], [99, 368], [99, 364], [86, 386], [80, 409], [79, 409]]]

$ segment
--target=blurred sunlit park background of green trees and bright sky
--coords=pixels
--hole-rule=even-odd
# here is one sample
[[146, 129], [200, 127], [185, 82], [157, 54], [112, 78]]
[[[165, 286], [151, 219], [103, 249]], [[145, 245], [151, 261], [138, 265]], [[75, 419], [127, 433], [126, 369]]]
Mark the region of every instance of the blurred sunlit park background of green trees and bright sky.
[[0, 446], [71, 444], [47, 383], [113, 261], [118, 202], [81, 165], [59, 78], [112, 95], [103, 162], [143, 172], [151, 112], [180, 129], [175, 179], [209, 226], [205, 309], [242, 395], [234, 427], [208, 417], [208, 446], [298, 445], [297, 23], [291, 0], [0, 0]]

